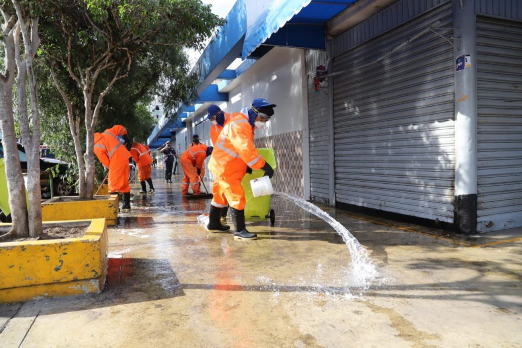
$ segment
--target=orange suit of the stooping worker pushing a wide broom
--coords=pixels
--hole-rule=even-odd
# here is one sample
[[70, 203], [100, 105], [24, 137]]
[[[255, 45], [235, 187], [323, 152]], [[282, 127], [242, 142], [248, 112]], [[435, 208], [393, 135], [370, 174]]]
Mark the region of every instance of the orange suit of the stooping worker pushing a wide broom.
[[199, 182], [201, 179], [197, 174], [197, 170], [201, 170], [201, 177], [205, 175], [204, 161], [207, 158], [207, 146], [199, 143], [193, 144], [180, 157], [180, 163], [183, 167], [183, 180], [181, 181], [181, 192], [183, 195], [188, 194], [188, 186], [192, 186], [194, 195], [201, 194]]

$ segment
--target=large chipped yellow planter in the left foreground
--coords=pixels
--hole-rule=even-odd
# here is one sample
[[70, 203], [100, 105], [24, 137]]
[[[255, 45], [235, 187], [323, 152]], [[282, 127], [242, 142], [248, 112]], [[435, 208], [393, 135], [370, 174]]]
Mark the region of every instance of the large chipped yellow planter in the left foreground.
[[[99, 293], [107, 275], [104, 219], [44, 222], [44, 226], [85, 225], [81, 238], [0, 243], [0, 303]], [[10, 224], [0, 224], [7, 232]]]

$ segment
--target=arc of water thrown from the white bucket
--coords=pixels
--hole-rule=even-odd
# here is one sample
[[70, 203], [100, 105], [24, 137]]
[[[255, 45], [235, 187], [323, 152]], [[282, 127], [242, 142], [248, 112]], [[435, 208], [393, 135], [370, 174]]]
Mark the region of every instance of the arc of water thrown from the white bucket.
[[377, 277], [377, 267], [370, 260], [366, 249], [359, 243], [350, 231], [345, 226], [341, 225], [339, 221], [332, 218], [328, 213], [319, 209], [319, 207], [313, 205], [310, 202], [305, 201], [301, 197], [274, 192], [277, 196], [286, 197], [295, 203], [296, 206], [303, 208], [309, 213], [314, 214], [316, 217], [326, 221], [330, 226], [334, 227], [337, 233], [342, 237], [342, 240], [346, 243], [348, 250], [350, 250], [350, 272], [349, 277], [351, 278], [351, 285], [354, 287], [361, 287], [362, 289], [368, 289], [370, 283]]

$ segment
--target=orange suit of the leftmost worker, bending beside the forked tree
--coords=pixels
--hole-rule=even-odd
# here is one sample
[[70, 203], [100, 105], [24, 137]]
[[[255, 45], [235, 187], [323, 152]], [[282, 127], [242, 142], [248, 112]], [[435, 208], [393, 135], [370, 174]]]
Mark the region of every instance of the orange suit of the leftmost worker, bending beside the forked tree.
[[126, 134], [127, 129], [121, 125], [105, 129], [103, 133], [94, 133], [94, 153], [100, 162], [109, 168], [109, 192], [111, 193], [131, 191], [131, 186], [129, 186], [131, 153], [117, 138], [118, 135]]

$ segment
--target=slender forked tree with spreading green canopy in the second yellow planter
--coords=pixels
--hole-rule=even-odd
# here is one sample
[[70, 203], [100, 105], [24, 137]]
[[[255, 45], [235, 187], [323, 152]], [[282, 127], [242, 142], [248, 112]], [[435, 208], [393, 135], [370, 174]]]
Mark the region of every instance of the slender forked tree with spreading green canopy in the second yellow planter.
[[[158, 47], [201, 47], [222, 21], [199, 0], [70, 0], [45, 2], [43, 54], [66, 106], [79, 174], [80, 198], [94, 188], [94, 128], [105, 96], [133, 63]], [[80, 116], [63, 86], [75, 82], [83, 96], [86, 148]]]

